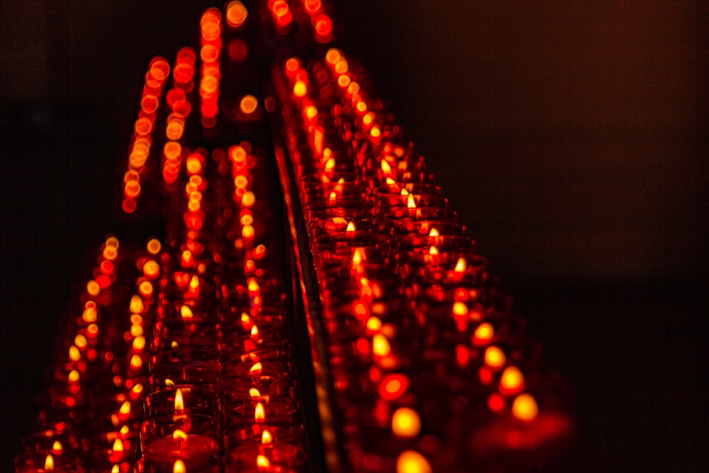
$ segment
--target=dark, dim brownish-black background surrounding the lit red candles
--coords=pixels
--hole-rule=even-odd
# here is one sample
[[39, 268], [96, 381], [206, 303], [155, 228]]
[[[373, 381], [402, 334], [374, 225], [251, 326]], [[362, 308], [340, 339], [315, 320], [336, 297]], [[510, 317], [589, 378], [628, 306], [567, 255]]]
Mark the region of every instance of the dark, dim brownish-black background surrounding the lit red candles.
[[[576, 403], [579, 471], [709, 445], [701, 1], [340, 2], [399, 123]], [[118, 225], [143, 74], [204, 1], [0, 2], [0, 469], [91, 252]]]

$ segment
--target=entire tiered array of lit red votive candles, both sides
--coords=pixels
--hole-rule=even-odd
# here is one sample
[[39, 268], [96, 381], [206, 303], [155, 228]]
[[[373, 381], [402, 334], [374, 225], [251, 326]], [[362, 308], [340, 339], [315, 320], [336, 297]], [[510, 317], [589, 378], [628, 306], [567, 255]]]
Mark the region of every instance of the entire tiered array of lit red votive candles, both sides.
[[[457, 472], [474, 458], [486, 471], [563, 438], [569, 418], [522, 319], [362, 65], [335, 48], [308, 64], [276, 60], [277, 99], [262, 101], [229, 77], [262, 77], [255, 40], [280, 55], [284, 40], [333, 38], [320, 0], [258, 3], [207, 9], [199, 50], [182, 48], [172, 67], [150, 62], [122, 206], [134, 213], [146, 189], [160, 189], [167, 235], [101, 245], [80, 315], [62, 332], [41, 430], [24, 441], [16, 472], [318, 464], [294, 377], [313, 368], [294, 369], [293, 343], [307, 340], [292, 338], [303, 321], [286, 304], [266, 111], [283, 125], [272, 133], [296, 179], [294, 195], [281, 182], [286, 204], [297, 199], [306, 223], [299, 236], [317, 282], [301, 287], [320, 295], [313, 314], [325, 333], [315, 335], [328, 352], [342, 469]], [[242, 132], [252, 139], [235, 138]]]

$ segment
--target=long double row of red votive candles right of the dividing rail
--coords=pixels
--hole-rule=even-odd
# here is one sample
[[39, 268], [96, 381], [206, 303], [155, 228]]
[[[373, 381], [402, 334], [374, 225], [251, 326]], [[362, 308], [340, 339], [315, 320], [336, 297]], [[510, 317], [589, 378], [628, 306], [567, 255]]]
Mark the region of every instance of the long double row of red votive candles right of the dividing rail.
[[523, 322], [362, 66], [332, 48], [273, 71], [354, 471], [465, 471], [562, 437]]

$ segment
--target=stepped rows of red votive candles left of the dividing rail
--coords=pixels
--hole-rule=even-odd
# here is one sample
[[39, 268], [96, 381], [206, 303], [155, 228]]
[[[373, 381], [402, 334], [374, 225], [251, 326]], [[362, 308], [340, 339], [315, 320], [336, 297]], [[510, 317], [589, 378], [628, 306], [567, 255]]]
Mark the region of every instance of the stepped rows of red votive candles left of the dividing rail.
[[[203, 13], [199, 54], [182, 48], [172, 67], [164, 57], [150, 62], [122, 206], [136, 210], [144, 184], [155, 182], [148, 158], [161, 156], [167, 235], [138, 247], [111, 235], [101, 246], [80, 316], [62, 333], [40, 430], [23, 440], [16, 472], [305, 467], [281, 222], [262, 169], [265, 148], [245, 140], [188, 148], [193, 96], [199, 93], [199, 122], [189, 123], [203, 131], [216, 127], [225, 101], [223, 23], [231, 42], [248, 39], [244, 4], [229, 2], [224, 17], [218, 9]], [[264, 117], [255, 95], [239, 103], [242, 122]], [[229, 135], [243, 124], [236, 122], [225, 123]]]

